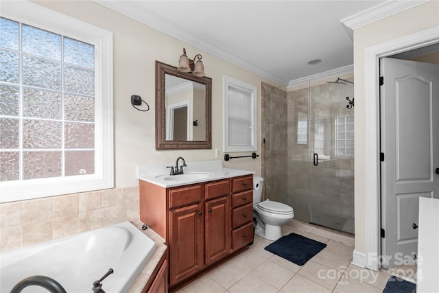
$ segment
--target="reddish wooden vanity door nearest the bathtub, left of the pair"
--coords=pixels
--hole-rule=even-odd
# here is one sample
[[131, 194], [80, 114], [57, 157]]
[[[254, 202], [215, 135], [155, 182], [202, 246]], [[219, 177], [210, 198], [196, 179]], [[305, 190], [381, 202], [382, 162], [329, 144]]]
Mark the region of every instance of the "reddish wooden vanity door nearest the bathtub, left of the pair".
[[203, 267], [202, 204], [170, 211], [170, 283], [182, 281]]

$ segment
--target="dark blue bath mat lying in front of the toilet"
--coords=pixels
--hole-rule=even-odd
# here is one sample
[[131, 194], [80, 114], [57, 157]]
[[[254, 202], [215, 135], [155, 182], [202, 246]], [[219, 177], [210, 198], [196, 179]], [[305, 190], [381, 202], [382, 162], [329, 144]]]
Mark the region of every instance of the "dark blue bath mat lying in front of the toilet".
[[320, 250], [325, 247], [327, 245], [322, 242], [291, 233], [266, 246], [265, 250], [288, 259], [299, 266], [303, 266], [311, 257], [320, 253]]

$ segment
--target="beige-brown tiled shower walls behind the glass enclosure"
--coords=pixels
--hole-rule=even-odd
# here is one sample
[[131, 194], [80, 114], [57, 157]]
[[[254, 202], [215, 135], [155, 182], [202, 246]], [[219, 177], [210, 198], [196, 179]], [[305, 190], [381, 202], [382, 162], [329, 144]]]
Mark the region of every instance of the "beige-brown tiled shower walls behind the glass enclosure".
[[[269, 84], [262, 84], [262, 131], [265, 139], [262, 174], [266, 197], [292, 206], [297, 220], [310, 222], [309, 209], [312, 205], [313, 215], [333, 216], [334, 222], [340, 218], [342, 221], [350, 218], [348, 232], [353, 233], [353, 157], [340, 158], [331, 154], [331, 158], [321, 161], [318, 168], [310, 169], [313, 168], [309, 164], [312, 150], [309, 150], [308, 144], [298, 143], [297, 139], [298, 113], [309, 117], [311, 147], [313, 113], [321, 111], [327, 114], [320, 122], [331, 132], [334, 131], [337, 115], [353, 114], [353, 109], [346, 109], [346, 89], [343, 84], [324, 83], [287, 93]], [[311, 115], [310, 95], [313, 99]], [[334, 143], [332, 138], [329, 145], [331, 150], [335, 149]], [[333, 219], [325, 218], [323, 221]], [[337, 226], [337, 229], [343, 230], [343, 227]]]

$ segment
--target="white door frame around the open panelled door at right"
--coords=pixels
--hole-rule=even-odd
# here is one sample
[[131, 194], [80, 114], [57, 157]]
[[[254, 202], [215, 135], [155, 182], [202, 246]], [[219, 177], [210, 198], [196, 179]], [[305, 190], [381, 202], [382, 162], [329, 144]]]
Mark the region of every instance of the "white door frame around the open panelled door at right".
[[364, 50], [364, 113], [366, 138], [366, 251], [354, 250], [354, 261], [379, 270], [381, 260], [379, 59], [439, 43], [439, 26], [416, 32]]

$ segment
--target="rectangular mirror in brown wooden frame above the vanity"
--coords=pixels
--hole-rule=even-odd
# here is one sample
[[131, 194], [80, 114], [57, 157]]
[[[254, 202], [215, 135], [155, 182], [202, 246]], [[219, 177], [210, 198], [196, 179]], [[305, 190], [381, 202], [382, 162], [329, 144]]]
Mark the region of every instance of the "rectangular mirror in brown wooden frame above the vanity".
[[212, 148], [212, 79], [156, 61], [156, 150]]

